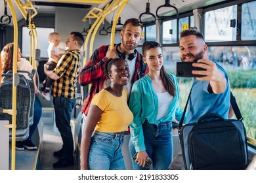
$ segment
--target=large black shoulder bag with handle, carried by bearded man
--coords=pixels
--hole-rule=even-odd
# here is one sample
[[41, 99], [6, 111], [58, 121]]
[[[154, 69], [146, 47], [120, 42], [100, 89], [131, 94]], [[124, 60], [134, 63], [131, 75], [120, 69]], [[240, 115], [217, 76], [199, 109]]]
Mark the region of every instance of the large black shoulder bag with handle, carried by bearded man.
[[[208, 120], [203, 122], [205, 119]], [[248, 165], [246, 132], [241, 120], [205, 114], [198, 122], [183, 125], [179, 137], [185, 169], [233, 170]]]

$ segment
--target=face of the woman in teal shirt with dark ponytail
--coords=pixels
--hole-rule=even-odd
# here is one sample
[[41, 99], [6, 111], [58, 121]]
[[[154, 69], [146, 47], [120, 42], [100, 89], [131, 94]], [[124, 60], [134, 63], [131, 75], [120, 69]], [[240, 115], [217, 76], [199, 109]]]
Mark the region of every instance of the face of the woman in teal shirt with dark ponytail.
[[160, 71], [163, 66], [163, 55], [161, 54], [161, 48], [150, 48], [146, 51], [143, 57], [144, 63], [148, 65], [148, 69], [153, 72]]

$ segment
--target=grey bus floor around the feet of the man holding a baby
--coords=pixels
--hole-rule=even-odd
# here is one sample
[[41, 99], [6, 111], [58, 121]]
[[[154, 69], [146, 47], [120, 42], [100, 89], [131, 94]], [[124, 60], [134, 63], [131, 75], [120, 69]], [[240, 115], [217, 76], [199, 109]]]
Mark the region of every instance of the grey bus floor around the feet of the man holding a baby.
[[[42, 137], [41, 141], [36, 142], [33, 140], [34, 144], [37, 144], [37, 150], [16, 150], [16, 170], [54, 170], [53, 163], [58, 161], [58, 158], [53, 156], [54, 151], [60, 150], [62, 148], [62, 139], [60, 133], [54, 124], [44, 124], [42, 121], [39, 123], [38, 133]], [[74, 158], [76, 158], [74, 156]], [[11, 169], [11, 143], [10, 143], [10, 161], [9, 169]], [[75, 170], [77, 169], [77, 161], [75, 164], [69, 167], [60, 168], [58, 170]]]

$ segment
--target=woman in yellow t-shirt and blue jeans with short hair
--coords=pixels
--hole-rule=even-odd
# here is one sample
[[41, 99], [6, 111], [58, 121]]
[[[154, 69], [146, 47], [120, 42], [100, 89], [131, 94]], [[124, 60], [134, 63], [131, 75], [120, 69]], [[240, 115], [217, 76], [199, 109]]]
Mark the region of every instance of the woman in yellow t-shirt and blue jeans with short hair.
[[122, 58], [110, 59], [105, 67], [110, 86], [97, 93], [91, 102], [81, 139], [82, 170], [125, 169], [121, 147], [133, 113], [123, 86], [129, 81], [130, 71]]

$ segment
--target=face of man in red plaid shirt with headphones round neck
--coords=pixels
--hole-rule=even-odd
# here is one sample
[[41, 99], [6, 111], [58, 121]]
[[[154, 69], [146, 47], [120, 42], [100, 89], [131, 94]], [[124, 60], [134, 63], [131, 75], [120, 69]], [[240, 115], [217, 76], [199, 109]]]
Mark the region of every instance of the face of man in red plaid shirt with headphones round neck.
[[142, 29], [140, 26], [135, 27], [132, 24], [127, 24], [120, 35], [121, 46], [123, 46], [127, 52], [133, 51], [142, 39]]

